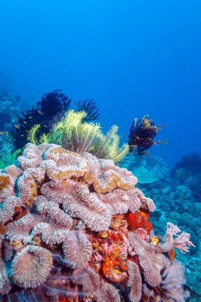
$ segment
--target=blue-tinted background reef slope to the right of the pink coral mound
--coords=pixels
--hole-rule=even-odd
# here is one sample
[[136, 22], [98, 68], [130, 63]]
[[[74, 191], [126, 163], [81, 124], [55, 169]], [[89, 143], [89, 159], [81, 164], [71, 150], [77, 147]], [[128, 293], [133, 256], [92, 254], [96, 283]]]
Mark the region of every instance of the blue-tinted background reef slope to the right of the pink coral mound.
[[168, 169], [159, 157], [138, 157], [132, 154], [127, 155], [118, 165], [138, 175], [140, 181], [137, 187], [153, 199], [156, 210], [150, 214], [150, 221], [155, 234], [160, 234], [168, 221], [178, 224], [181, 230], [187, 230], [190, 234], [196, 249], [191, 249], [185, 256], [177, 253], [176, 259], [185, 265], [187, 287], [192, 293], [189, 301], [198, 302], [201, 297], [200, 155], [192, 152], [183, 156], [173, 169]]

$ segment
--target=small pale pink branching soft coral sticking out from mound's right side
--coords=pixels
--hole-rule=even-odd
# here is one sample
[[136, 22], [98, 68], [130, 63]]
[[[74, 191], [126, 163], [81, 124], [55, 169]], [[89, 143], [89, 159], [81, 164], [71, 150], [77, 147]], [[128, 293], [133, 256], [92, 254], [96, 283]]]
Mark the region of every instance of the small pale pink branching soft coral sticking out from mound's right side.
[[[173, 248], [177, 248], [181, 253], [186, 254], [186, 252], [189, 252], [190, 246], [195, 247], [189, 240], [190, 235], [188, 233], [182, 232], [180, 235], [177, 235], [179, 232], [181, 232], [181, 230], [177, 225], [167, 222], [167, 230], [162, 239], [163, 244], [161, 245], [161, 252], [164, 253]], [[176, 238], [174, 239], [173, 236], [176, 236]]]

